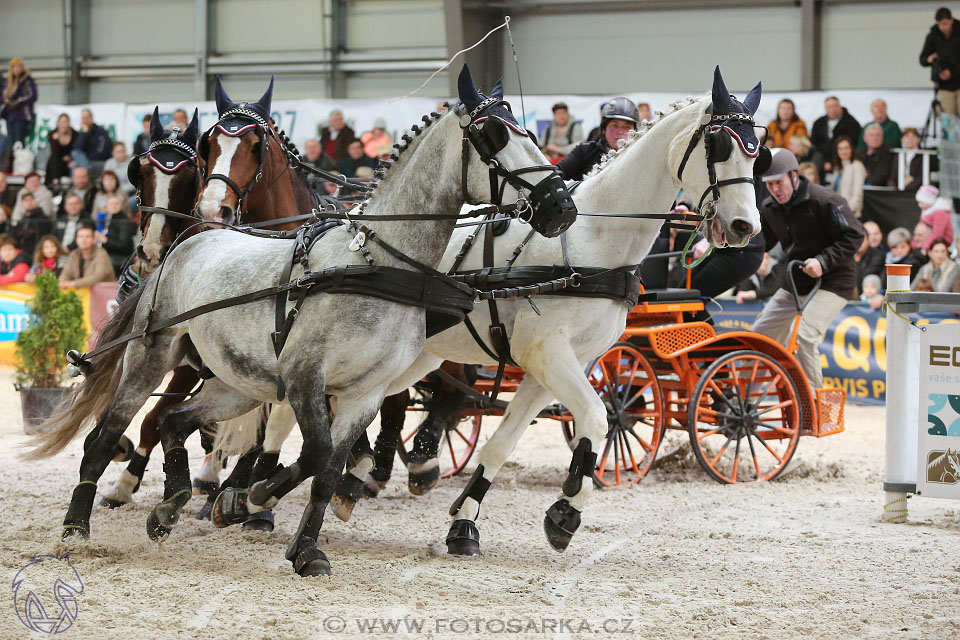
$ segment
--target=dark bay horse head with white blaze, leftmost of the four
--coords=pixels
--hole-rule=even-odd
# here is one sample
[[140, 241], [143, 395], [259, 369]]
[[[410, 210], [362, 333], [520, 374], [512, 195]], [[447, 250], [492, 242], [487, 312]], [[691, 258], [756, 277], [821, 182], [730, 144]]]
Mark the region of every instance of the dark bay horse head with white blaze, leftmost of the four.
[[[159, 108], [150, 120], [150, 146], [127, 165], [127, 177], [137, 188], [142, 206], [159, 207], [189, 214], [197, 200], [203, 173], [203, 160], [197, 156], [200, 135], [198, 112], [186, 131], [166, 130], [160, 124]], [[137, 256], [146, 272], [156, 268], [176, 235], [189, 221], [163, 214], [141, 213], [142, 239]]]

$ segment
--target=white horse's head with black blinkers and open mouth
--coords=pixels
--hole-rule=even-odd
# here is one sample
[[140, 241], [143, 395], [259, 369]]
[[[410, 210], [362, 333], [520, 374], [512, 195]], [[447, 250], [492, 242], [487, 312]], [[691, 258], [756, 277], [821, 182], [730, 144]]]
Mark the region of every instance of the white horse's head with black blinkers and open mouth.
[[701, 101], [699, 121], [674, 146], [675, 175], [705, 216], [704, 234], [714, 246], [742, 247], [760, 232], [754, 176], [770, 163], [753, 119], [760, 95], [757, 83], [741, 102], [727, 91], [717, 67], [710, 99]]

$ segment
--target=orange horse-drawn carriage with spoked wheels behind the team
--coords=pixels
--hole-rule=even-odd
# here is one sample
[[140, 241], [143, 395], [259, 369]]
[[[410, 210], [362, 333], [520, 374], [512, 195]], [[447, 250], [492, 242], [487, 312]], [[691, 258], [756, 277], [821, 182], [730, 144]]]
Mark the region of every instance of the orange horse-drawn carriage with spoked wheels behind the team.
[[[796, 299], [799, 319], [803, 306]], [[597, 484], [639, 482], [667, 429], [686, 431], [704, 470], [729, 484], [772, 480], [789, 464], [800, 436], [843, 431], [846, 394], [812, 389], [794, 357], [799, 322], [784, 347], [751, 331], [717, 333], [709, 323], [685, 321], [684, 314], [704, 309], [697, 291], [644, 292], [641, 300], [627, 315], [620, 340], [587, 369], [609, 425], [594, 471]], [[501, 391], [515, 391], [522, 379], [522, 369], [506, 367]], [[506, 403], [489, 400], [492, 387], [492, 376], [481, 376], [460, 423], [443, 434], [444, 477], [466, 467], [484, 416], [503, 415]], [[576, 424], [562, 405], [547, 407], [540, 417], [559, 421], [573, 441]], [[403, 433], [401, 458], [415, 433]]]

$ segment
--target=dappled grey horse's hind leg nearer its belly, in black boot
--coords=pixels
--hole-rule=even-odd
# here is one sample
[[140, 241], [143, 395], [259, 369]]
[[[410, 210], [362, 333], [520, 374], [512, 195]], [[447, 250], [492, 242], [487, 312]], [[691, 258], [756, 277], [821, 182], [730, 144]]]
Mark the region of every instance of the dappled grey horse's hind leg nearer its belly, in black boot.
[[163, 444], [163, 502], [147, 517], [147, 535], [163, 540], [180, 518], [180, 510], [193, 495], [187, 437], [194, 431], [221, 420], [239, 417], [255, 409], [259, 403], [220, 380], [208, 380], [203, 390], [186, 402], [165, 410], [160, 416], [160, 438]]

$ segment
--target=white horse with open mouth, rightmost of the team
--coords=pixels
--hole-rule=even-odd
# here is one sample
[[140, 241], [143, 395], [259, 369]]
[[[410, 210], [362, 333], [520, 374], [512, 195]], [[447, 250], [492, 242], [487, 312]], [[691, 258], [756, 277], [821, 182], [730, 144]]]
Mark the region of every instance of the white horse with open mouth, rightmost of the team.
[[[649, 253], [663, 220], [591, 217], [589, 214], [666, 211], [678, 189], [689, 196], [703, 194], [700, 209], [707, 213], [709, 222], [704, 233], [712, 246], [743, 246], [760, 231], [752, 176], [755, 171], [762, 173], [762, 165], [769, 161], [769, 154], [761, 148], [753, 129], [753, 114], [760, 104], [760, 96], [761, 86], [757, 84], [740, 102], [727, 91], [717, 68], [711, 94], [686, 103], [674, 103], [673, 111], [643, 123], [640, 131], [633, 132], [584, 179], [573, 196], [582, 215], [564, 234], [562, 243], [536, 237], [525, 239], [526, 232], [512, 225], [497, 238], [492, 252], [493, 264], [516, 267], [572, 264], [611, 269], [639, 264]], [[700, 159], [704, 157], [706, 162]], [[707, 200], [711, 196], [712, 199]], [[441, 270], [451, 269], [455, 262], [460, 263], [459, 273], [477, 273], [488, 266], [480, 251], [467, 253], [462, 262], [458, 260], [469, 233], [470, 230], [458, 230], [453, 234], [441, 260]], [[523, 244], [526, 246], [518, 258], [514, 248]], [[576, 291], [570, 293], [574, 297], [536, 295], [535, 307], [520, 298], [497, 303], [500, 322], [510, 333], [509, 354], [526, 375], [502, 423], [479, 452], [476, 471], [467, 487], [450, 508], [453, 523], [446, 542], [451, 554], [479, 553], [476, 519], [480, 502], [520, 436], [552, 399], [571, 411], [577, 433], [573, 439], [576, 448], [570, 474], [560, 499], [544, 518], [549, 544], [557, 551], [565, 550], [580, 524], [581, 512], [593, 489], [597, 452], [607, 434], [607, 410], [584, 371], [589, 362], [623, 333], [628, 307], [632, 305], [613, 299], [576, 297]], [[481, 333], [482, 327], [492, 324], [485, 306], [475, 310], [470, 320], [481, 328]], [[493, 349], [478, 344], [464, 325], [448, 329], [427, 341], [423, 355], [391, 390], [405, 382], [412, 384], [420, 380], [444, 360], [497, 364], [497, 359], [491, 357]], [[449, 397], [452, 402], [434, 403], [443, 408], [428, 419], [434, 428], [445, 420], [456, 420], [459, 397]], [[390, 419], [382, 420], [382, 424], [394, 431], [381, 433], [376, 460], [385, 461], [388, 463], [385, 466], [389, 466], [394, 455], [390, 447], [396, 446], [402, 417], [398, 419], [392, 414]], [[272, 437], [276, 436], [270, 433], [266, 436]], [[412, 467], [411, 473], [436, 469], [436, 449], [432, 455], [432, 465]], [[358, 497], [349, 490], [349, 485], [366, 479], [369, 464], [368, 461], [366, 467], [355, 468], [344, 475], [342, 488], [334, 497], [338, 515], [349, 517]], [[374, 479], [384, 482], [387, 475], [381, 470]], [[370, 484], [375, 482], [368, 480]]]

